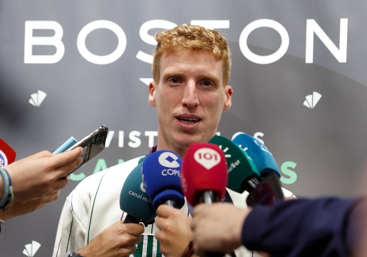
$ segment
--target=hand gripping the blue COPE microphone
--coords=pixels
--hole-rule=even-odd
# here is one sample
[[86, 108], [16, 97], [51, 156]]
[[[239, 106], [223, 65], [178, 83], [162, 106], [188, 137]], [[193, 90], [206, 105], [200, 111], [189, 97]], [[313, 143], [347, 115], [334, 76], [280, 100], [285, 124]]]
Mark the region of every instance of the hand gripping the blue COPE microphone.
[[192, 240], [191, 218], [167, 204], [157, 208], [157, 215], [155, 224], [160, 230], [155, 237], [159, 241], [161, 253], [166, 257], [181, 257]]

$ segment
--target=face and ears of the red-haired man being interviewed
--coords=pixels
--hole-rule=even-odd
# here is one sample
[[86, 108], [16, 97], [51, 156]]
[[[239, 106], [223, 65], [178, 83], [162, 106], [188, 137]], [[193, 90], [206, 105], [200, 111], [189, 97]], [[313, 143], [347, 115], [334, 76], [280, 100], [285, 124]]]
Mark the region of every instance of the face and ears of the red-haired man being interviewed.
[[149, 84], [149, 103], [157, 108], [158, 148], [188, 148], [208, 142], [222, 111], [231, 106], [232, 88], [223, 86], [221, 62], [211, 53], [182, 51], [160, 60], [159, 84]]

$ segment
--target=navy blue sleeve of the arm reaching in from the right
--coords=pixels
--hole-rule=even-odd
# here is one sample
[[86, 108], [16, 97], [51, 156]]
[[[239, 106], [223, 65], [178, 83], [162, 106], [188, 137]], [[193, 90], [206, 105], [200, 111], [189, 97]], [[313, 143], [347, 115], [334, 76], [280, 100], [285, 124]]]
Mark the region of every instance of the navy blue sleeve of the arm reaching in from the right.
[[243, 245], [272, 257], [348, 256], [358, 226], [350, 218], [360, 203], [366, 205], [357, 198], [321, 198], [255, 206], [243, 224]]

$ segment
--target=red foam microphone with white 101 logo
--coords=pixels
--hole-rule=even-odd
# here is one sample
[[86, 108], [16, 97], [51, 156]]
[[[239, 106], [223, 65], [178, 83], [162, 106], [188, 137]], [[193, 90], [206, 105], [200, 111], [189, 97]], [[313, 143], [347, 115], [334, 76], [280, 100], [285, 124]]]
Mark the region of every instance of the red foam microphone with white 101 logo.
[[218, 145], [189, 146], [181, 166], [181, 187], [192, 206], [223, 199], [228, 184], [227, 161]]

